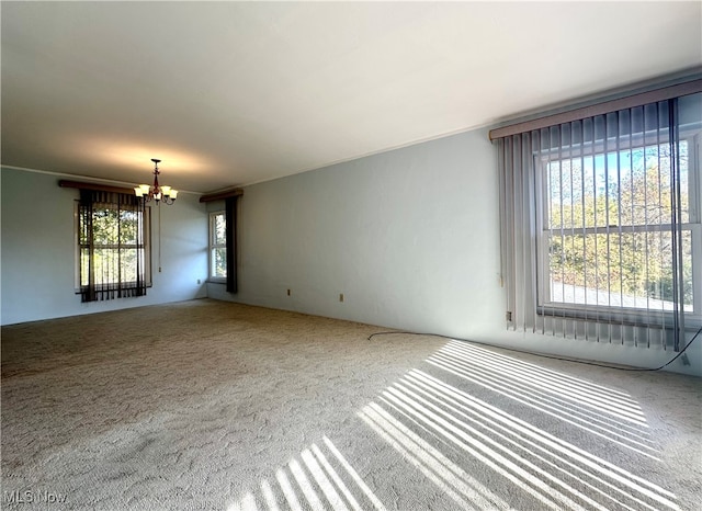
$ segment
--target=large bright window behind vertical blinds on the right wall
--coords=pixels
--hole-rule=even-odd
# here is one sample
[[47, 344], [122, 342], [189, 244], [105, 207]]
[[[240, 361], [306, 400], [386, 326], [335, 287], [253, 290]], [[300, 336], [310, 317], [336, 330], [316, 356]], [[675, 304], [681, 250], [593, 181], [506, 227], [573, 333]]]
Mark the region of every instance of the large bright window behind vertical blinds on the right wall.
[[[579, 126], [578, 126], [579, 127]], [[675, 307], [675, 264], [681, 270], [681, 307], [700, 313], [699, 162], [691, 147], [699, 135], [678, 144], [677, 182], [680, 258], [673, 243], [669, 143], [644, 145], [641, 137], [618, 140], [618, 148], [559, 147], [537, 160], [540, 305], [597, 306], [636, 311]], [[550, 151], [551, 152], [551, 151]]]

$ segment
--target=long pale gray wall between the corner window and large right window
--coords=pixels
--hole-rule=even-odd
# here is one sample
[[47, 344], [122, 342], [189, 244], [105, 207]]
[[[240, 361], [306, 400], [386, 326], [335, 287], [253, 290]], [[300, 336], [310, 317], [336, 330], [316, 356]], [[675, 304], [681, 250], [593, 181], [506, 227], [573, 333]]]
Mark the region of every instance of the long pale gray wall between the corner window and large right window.
[[[239, 293], [208, 284], [208, 295], [565, 356], [667, 362], [661, 350], [506, 331], [496, 164], [478, 129], [247, 186]], [[700, 344], [691, 366], [670, 368], [702, 375]]]

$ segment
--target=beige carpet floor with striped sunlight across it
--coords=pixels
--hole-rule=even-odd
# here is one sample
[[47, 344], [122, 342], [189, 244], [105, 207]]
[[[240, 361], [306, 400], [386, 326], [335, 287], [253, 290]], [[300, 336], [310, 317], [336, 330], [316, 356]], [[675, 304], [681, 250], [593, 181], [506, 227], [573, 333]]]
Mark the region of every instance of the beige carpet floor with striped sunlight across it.
[[2, 328], [3, 509], [698, 509], [700, 379], [194, 300]]

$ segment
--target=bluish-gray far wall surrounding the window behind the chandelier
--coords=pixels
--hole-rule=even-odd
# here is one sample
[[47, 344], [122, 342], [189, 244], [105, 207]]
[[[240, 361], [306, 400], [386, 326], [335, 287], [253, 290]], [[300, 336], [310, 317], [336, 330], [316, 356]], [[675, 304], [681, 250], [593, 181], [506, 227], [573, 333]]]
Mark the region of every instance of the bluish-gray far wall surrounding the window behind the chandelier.
[[[81, 304], [75, 288], [73, 204], [78, 191], [60, 177], [2, 168], [2, 325], [179, 302], [206, 296], [207, 216], [199, 196], [182, 193], [152, 208], [152, 282], [147, 295]], [[197, 279], [202, 284], [197, 284]]]

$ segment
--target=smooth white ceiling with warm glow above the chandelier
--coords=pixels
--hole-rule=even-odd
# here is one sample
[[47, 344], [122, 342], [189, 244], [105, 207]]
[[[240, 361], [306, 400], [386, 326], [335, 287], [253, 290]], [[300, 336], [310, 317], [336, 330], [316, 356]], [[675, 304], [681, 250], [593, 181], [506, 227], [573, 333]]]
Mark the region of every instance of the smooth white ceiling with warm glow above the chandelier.
[[210, 192], [702, 65], [702, 2], [7, 2], [2, 163]]

